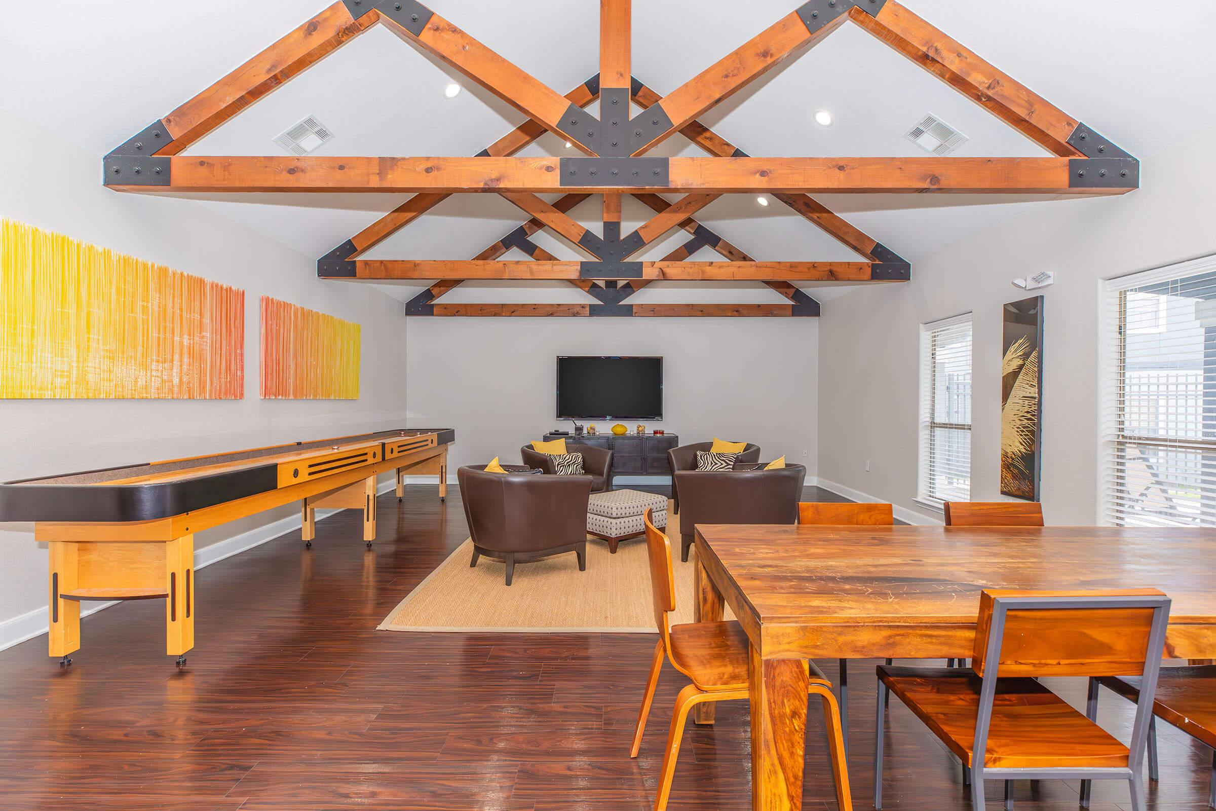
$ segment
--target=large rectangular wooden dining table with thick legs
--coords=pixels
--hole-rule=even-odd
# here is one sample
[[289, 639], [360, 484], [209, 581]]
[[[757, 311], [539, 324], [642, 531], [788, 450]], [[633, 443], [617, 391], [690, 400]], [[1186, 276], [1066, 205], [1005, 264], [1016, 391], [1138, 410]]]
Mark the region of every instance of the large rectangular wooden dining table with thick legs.
[[750, 642], [755, 811], [803, 807], [806, 659], [969, 658], [985, 588], [1156, 587], [1165, 655], [1216, 658], [1211, 529], [699, 524], [696, 550], [696, 619], [725, 602]]

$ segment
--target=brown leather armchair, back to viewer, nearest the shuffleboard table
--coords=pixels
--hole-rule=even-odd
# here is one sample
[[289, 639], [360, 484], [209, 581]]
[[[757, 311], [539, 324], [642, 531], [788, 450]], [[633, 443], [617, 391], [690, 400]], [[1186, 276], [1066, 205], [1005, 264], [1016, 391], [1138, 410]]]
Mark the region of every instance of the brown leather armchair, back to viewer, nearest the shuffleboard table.
[[590, 475], [524, 473], [522, 466], [505, 466], [507, 473], [486, 473], [484, 464], [456, 471], [468, 533], [473, 537], [473, 562], [480, 556], [507, 564], [507, 585], [516, 563], [574, 552], [579, 571], [587, 569], [587, 499]]

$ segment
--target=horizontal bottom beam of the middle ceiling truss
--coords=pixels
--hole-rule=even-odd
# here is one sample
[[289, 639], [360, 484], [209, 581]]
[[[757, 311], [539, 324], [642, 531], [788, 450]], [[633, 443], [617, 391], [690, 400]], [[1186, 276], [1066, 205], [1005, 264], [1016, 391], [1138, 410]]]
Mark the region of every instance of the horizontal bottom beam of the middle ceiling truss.
[[[535, 247], [535, 246], [534, 246]], [[525, 250], [525, 253], [528, 253]], [[449, 259], [356, 259], [354, 276], [331, 277], [348, 281], [407, 280], [546, 280], [582, 278], [621, 280], [619, 275], [598, 275], [604, 263], [563, 261], [551, 258], [542, 248], [541, 260], [449, 260]], [[900, 282], [876, 275], [868, 261], [687, 261], [659, 260], [631, 263], [636, 278], [646, 281], [798, 281], [798, 282]]]

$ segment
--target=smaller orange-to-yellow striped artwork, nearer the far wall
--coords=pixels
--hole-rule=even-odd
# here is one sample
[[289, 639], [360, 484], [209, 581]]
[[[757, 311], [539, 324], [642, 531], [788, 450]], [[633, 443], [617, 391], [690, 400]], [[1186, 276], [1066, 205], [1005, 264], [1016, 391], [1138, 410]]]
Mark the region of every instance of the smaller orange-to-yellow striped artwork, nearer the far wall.
[[360, 327], [261, 297], [261, 396], [359, 399]]

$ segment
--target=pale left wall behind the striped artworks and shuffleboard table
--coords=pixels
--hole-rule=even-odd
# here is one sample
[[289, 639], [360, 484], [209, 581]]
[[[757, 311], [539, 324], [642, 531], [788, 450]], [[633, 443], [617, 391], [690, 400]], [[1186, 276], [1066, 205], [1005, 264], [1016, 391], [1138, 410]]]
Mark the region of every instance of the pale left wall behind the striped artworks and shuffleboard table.
[[[0, 400], [0, 480], [402, 424], [400, 303], [365, 286], [321, 282], [314, 258], [196, 202], [107, 191], [101, 156], [2, 109], [0, 173], [0, 216], [246, 291], [243, 400]], [[259, 399], [263, 294], [362, 325], [359, 400]], [[269, 512], [202, 533], [196, 550], [293, 513]], [[0, 524], [0, 556], [2, 629], [45, 610], [46, 551], [34, 542], [32, 526]]]

